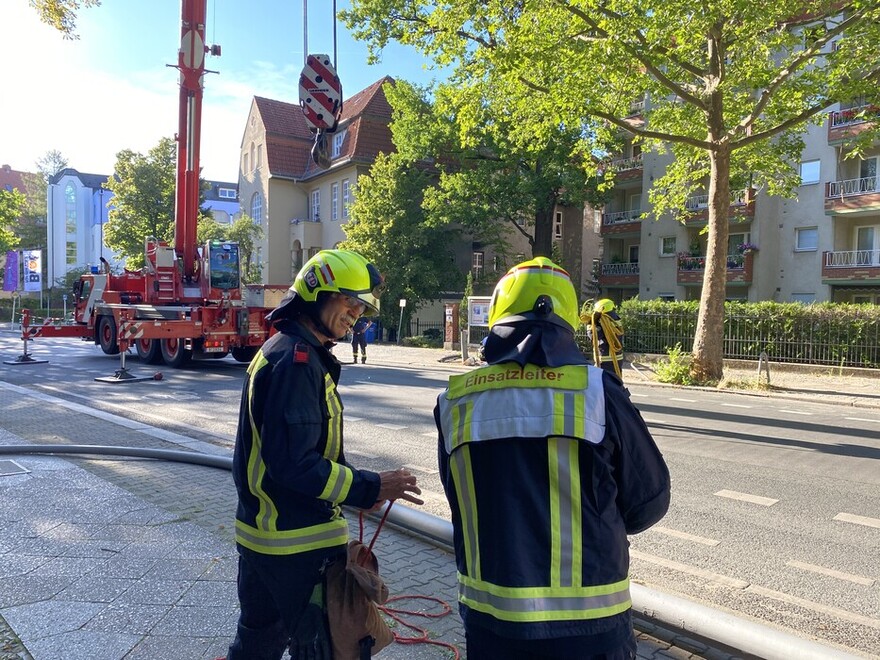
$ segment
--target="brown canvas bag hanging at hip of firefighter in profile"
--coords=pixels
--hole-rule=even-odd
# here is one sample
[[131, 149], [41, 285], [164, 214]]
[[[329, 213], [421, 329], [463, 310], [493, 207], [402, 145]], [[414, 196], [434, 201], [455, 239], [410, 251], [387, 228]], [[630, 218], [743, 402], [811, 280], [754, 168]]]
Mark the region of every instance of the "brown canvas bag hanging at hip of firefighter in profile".
[[[333, 660], [367, 659], [394, 641], [376, 606], [388, 600], [388, 587], [379, 576], [379, 560], [372, 550], [375, 541], [375, 536], [369, 546], [350, 541], [345, 561], [333, 562], [327, 568], [327, 619]], [[372, 646], [367, 641], [363, 649], [361, 640], [370, 637], [374, 640]]]

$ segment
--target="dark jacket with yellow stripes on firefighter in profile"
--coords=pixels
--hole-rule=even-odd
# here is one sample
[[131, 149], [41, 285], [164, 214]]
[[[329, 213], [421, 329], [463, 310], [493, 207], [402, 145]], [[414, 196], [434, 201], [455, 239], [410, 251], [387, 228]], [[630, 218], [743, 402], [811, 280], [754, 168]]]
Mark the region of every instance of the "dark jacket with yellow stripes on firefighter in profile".
[[233, 458], [235, 538], [269, 555], [338, 554], [341, 504], [369, 507], [379, 475], [345, 461], [340, 367], [295, 321], [279, 324], [248, 367]]

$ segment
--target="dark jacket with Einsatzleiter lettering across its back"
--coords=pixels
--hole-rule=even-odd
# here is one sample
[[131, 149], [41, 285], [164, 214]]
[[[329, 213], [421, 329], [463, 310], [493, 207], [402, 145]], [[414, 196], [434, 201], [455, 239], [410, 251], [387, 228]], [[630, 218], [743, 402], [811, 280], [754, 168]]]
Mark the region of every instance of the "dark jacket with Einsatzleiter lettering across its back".
[[620, 381], [493, 364], [450, 378], [434, 415], [465, 626], [547, 639], [629, 625], [626, 537], [665, 515], [670, 482]]

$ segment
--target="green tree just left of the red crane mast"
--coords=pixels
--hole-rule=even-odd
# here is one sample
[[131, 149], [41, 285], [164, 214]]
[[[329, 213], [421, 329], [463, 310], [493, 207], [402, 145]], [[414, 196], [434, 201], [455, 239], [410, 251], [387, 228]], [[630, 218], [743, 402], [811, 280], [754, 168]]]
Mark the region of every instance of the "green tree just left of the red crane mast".
[[[146, 155], [125, 149], [116, 154], [115, 176], [104, 187], [113, 191], [113, 206], [104, 225], [104, 242], [125, 257], [126, 267], [144, 265], [144, 241], [174, 238], [177, 143], [162, 138]], [[208, 212], [199, 210], [197, 222]]]

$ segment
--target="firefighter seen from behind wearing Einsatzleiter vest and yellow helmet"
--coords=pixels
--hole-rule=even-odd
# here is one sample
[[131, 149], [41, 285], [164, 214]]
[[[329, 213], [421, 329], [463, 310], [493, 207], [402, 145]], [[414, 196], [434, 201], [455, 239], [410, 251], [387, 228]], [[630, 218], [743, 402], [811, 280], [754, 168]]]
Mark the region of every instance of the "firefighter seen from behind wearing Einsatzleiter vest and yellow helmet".
[[472, 658], [636, 657], [627, 534], [665, 515], [669, 471], [621, 381], [579, 350], [578, 311], [546, 257], [511, 268], [488, 365], [434, 409]]

